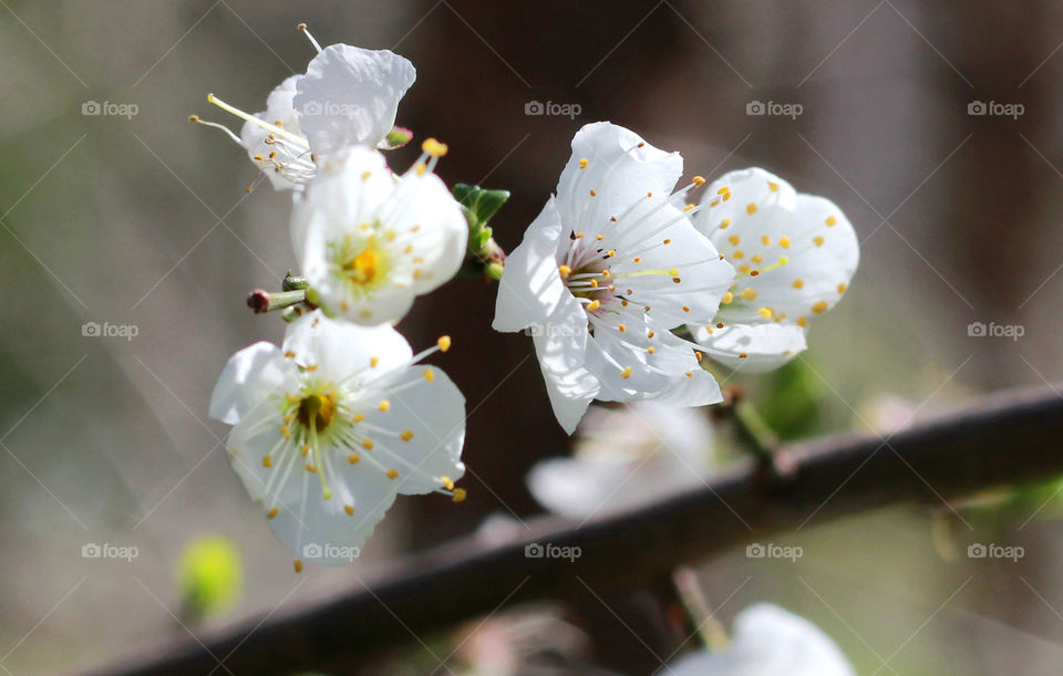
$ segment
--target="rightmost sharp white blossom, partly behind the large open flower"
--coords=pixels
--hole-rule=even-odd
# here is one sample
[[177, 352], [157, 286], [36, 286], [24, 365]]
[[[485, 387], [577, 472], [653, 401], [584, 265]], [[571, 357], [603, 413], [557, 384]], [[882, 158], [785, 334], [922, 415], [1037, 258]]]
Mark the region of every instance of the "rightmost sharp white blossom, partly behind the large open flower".
[[834, 308], [856, 272], [853, 226], [830, 200], [797, 194], [760, 168], [714, 181], [701, 206], [694, 225], [737, 273], [720, 312], [695, 337], [731, 366], [784, 364], [805, 349], [808, 320]]

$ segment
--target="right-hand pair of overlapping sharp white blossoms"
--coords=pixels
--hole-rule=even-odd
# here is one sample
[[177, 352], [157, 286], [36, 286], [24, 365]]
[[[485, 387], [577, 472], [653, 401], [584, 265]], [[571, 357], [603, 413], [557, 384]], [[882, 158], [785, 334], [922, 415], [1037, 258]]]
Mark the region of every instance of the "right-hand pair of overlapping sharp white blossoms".
[[601, 122], [506, 262], [494, 326], [529, 330], [554, 413], [571, 434], [594, 399], [703, 406], [722, 399], [708, 360], [750, 370], [805, 349], [859, 248], [833, 202], [758, 169], [704, 191], [665, 153]]

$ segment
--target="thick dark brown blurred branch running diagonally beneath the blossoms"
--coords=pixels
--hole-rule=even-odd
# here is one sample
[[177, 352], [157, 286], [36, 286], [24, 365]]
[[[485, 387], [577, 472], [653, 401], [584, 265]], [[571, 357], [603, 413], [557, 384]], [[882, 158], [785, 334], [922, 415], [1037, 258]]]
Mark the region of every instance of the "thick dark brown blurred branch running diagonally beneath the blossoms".
[[[1054, 391], [1001, 393], [888, 444], [847, 436], [784, 449], [777, 464], [784, 474], [765, 478], [750, 465], [706, 488], [582, 528], [541, 519], [525, 541], [485, 547], [458, 540], [390, 565], [369, 587], [278, 612], [260, 626], [251, 618], [230, 627], [205, 639], [206, 649], [193, 641], [167, 645], [106, 673], [206, 674], [218, 659], [234, 674], [345, 673], [384, 648], [413, 642], [411, 632], [424, 636], [488, 613], [503, 600], [582, 599], [585, 582], [595, 593], [634, 589], [681, 564], [794, 529], [813, 514], [812, 523], [823, 523], [901, 501], [940, 505], [1060, 474], [1061, 439], [1063, 398]], [[524, 547], [532, 541], [579, 547], [582, 555], [528, 559]]]

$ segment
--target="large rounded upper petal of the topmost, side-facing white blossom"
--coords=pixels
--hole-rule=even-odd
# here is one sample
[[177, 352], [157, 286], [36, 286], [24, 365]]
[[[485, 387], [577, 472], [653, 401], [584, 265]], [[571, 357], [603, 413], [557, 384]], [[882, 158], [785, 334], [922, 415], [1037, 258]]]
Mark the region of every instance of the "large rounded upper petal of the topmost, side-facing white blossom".
[[296, 85], [293, 103], [310, 147], [320, 156], [349, 145], [375, 147], [415, 79], [413, 64], [388, 50], [327, 46]]

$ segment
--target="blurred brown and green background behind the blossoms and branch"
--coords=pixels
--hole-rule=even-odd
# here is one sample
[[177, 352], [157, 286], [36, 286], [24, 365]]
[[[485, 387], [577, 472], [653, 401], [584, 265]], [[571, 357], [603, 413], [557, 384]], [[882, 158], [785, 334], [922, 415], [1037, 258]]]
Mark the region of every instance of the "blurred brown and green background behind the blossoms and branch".
[[[468, 402], [468, 500], [401, 499], [352, 568], [292, 574], [291, 554], [228, 466], [225, 426], [206, 415], [229, 355], [282, 335], [279, 318], [251, 315], [244, 299], [279, 288], [295, 263], [290, 196], [268, 185], [245, 193], [256, 170], [242, 150], [187, 116], [238, 129], [206, 94], [261, 110], [314, 53], [301, 21], [322, 44], [413, 61], [417, 82], [399, 124], [450, 144], [440, 167], [448, 183], [513, 191], [492, 223], [507, 250], [555, 188], [572, 134], [598, 119], [682, 152], [688, 176], [758, 165], [842, 206], [863, 243], [847, 299], [813, 325], [798, 367], [736, 378], [787, 439], [885, 433], [981, 392], [1063, 377], [1063, 3], [0, 6], [0, 667], [9, 674], [75, 673], [187, 638], [183, 624], [198, 634], [312, 604], [491, 514], [519, 527], [541, 511], [527, 470], [569, 453], [532, 342], [491, 331], [494, 287], [455, 281], [422, 299], [401, 329], [415, 347], [454, 336], [436, 361]], [[92, 102], [116, 114], [92, 114]], [[528, 115], [532, 102], [579, 114]], [[780, 105], [801, 114], [751, 114]], [[405, 167], [416, 153], [390, 162]], [[85, 335], [89, 322], [127, 335]], [[1022, 336], [971, 335], [973, 322], [1019, 326]], [[798, 561], [737, 551], [700, 569], [704, 592], [725, 625], [756, 601], [808, 617], [860, 674], [1055, 673], [1063, 530], [1051, 519], [1054, 487], [1039, 490], [962, 517], [897, 507], [813, 519], [780, 539], [803, 548]], [[221, 563], [207, 565], [231, 593], [219, 592], [217, 612], [189, 615], [182, 558], [207, 534], [235, 550], [220, 547]], [[972, 542], [1021, 545], [1025, 555], [970, 559]], [[91, 544], [137, 555], [83, 557]], [[227, 568], [235, 557], [242, 575]], [[570, 648], [572, 659], [650, 673], [659, 661], [617, 618], [642, 633], [647, 617], [643, 635], [658, 646], [639, 603], [588, 593], [564, 609], [495, 617], [477, 637], [512, 638], [514, 623], [538, 617], [568, 637], [554, 649]], [[454, 659], [475, 661], [467, 653], [478, 641]], [[374, 673], [430, 673], [421, 652], [414, 645]]]

